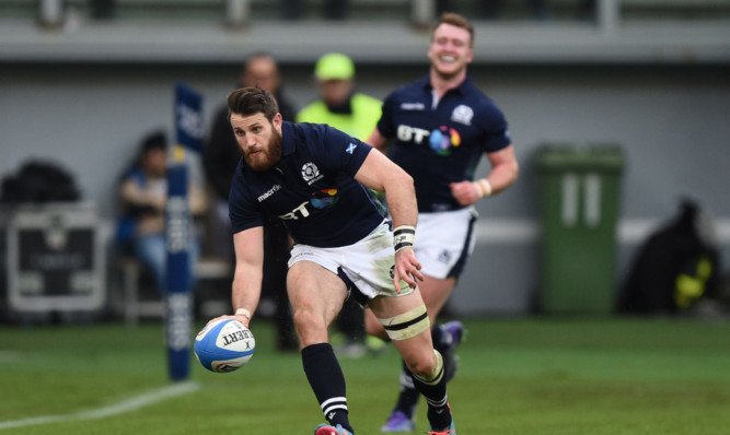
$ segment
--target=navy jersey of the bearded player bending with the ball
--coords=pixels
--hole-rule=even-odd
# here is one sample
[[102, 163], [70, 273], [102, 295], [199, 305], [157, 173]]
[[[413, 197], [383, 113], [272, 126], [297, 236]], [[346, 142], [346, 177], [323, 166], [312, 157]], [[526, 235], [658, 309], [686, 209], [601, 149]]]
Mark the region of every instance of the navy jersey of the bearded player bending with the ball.
[[282, 153], [269, 171], [253, 171], [241, 158], [229, 196], [233, 233], [279, 216], [297, 243], [351, 245], [383, 222], [369, 190], [355, 174], [372, 146], [323, 124], [281, 128]]

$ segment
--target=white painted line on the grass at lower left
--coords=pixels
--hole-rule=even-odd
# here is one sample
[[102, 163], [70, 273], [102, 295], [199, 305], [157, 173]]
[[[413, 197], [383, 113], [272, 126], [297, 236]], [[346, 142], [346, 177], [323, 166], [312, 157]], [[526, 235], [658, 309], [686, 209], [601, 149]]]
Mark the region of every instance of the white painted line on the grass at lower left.
[[63, 415], [43, 415], [43, 416], [33, 416], [30, 419], [14, 420], [9, 422], [0, 422], [0, 431], [11, 427], [23, 427], [23, 426], [33, 426], [36, 424], [47, 424], [47, 423], [58, 423], [58, 422], [69, 422], [74, 420], [92, 420], [92, 419], [104, 419], [106, 416], [119, 415], [125, 412], [130, 412], [138, 410], [140, 408], [147, 407], [159, 401], [186, 395], [188, 392], [197, 391], [200, 389], [200, 386], [197, 383], [187, 381], [171, 385], [167, 387], [160, 388], [144, 395], [136, 396], [125, 401], [121, 401], [109, 407], [100, 408], [91, 411], [76, 412], [73, 414], [63, 414]]

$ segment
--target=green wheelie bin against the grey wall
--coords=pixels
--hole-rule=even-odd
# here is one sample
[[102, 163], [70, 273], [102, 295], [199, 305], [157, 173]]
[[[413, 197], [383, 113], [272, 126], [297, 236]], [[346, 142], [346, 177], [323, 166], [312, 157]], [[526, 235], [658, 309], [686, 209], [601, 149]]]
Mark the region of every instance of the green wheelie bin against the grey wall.
[[551, 143], [537, 149], [542, 313], [613, 310], [624, 161], [615, 144]]

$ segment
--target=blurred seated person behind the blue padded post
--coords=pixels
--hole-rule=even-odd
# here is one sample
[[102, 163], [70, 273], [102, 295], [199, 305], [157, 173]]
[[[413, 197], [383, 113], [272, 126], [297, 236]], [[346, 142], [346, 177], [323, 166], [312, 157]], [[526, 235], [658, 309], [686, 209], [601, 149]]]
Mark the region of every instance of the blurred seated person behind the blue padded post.
[[[165, 283], [165, 200], [167, 198], [167, 140], [163, 132], [148, 136], [141, 144], [134, 166], [127, 171], [119, 186], [121, 217], [117, 227], [117, 240], [127, 245], [129, 250], [153, 273], [160, 292], [166, 290]], [[193, 217], [200, 216], [207, 207], [202, 190], [188, 186], [188, 207]], [[188, 252], [190, 271], [195, 270], [200, 239], [195, 228], [190, 230]], [[193, 285], [195, 277], [192, 277]]]

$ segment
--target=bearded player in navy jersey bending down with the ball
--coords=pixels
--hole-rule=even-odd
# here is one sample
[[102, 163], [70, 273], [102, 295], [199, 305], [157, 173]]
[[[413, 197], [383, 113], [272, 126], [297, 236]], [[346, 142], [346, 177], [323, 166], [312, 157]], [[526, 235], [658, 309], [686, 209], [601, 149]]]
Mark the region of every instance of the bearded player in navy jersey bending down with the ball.
[[[354, 434], [345, 377], [327, 328], [349, 296], [367, 305], [426, 397], [431, 434], [455, 435], [443, 358], [416, 280], [418, 216], [412, 177], [370, 145], [326, 125], [282, 121], [274, 97], [244, 87], [228, 98], [243, 158], [229, 196], [235, 247], [233, 316], [248, 326], [262, 290], [265, 216], [294, 239], [287, 290], [304, 373], [328, 424], [315, 435]], [[394, 230], [366, 187], [384, 191]]]

